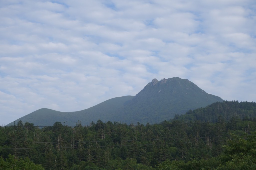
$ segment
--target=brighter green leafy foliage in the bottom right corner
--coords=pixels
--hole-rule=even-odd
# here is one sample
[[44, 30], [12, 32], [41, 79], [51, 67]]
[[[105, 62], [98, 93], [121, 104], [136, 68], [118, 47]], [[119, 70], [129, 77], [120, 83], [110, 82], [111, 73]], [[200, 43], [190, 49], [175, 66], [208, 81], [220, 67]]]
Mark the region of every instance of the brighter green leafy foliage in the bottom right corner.
[[256, 136], [236, 136], [223, 146], [225, 150], [217, 157], [208, 160], [170, 161], [159, 163], [158, 170], [164, 169], [255, 169], [256, 168]]

